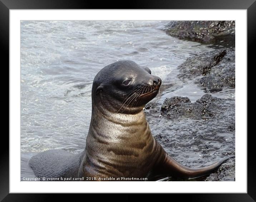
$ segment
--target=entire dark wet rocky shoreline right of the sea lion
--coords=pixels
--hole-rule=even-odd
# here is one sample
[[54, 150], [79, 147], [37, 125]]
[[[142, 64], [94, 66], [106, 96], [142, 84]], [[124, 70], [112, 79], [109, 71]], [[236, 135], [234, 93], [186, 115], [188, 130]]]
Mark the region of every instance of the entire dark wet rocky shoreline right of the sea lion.
[[[218, 46], [213, 51], [189, 57], [178, 66], [179, 80], [184, 84], [193, 82], [207, 94], [195, 102], [189, 97], [174, 96], [162, 103], [146, 105], [144, 112], [152, 134], [174, 159], [188, 167], [209, 165], [234, 155], [235, 98], [220, 98], [215, 93], [235, 89], [235, 44], [232, 42], [235, 22], [172, 21], [166, 26], [166, 33], [179, 39]], [[232, 40], [222, 41], [219, 46], [223, 36]], [[235, 181], [235, 158], [229, 159], [211, 175], [193, 180]]]

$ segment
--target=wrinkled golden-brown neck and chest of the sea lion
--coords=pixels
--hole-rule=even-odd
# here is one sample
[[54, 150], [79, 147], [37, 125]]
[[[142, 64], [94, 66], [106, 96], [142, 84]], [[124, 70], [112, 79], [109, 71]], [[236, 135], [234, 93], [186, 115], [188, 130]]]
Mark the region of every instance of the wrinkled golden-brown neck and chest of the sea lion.
[[80, 176], [146, 177], [158, 160], [158, 144], [144, 112], [92, 117]]

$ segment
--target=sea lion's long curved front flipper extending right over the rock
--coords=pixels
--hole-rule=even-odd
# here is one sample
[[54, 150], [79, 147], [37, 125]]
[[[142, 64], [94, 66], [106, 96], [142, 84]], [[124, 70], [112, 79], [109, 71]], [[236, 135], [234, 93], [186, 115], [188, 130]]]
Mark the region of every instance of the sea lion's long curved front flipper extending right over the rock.
[[235, 155], [228, 156], [223, 158], [220, 161], [217, 161], [211, 165], [199, 167], [199, 168], [189, 168], [183, 166], [181, 163], [174, 160], [171, 156], [166, 154], [166, 158], [162, 162], [162, 164], [158, 167], [158, 170], [163, 174], [171, 175], [173, 177], [179, 178], [197, 178], [205, 175], [209, 175], [214, 170], [222, 165], [229, 158], [233, 158]]

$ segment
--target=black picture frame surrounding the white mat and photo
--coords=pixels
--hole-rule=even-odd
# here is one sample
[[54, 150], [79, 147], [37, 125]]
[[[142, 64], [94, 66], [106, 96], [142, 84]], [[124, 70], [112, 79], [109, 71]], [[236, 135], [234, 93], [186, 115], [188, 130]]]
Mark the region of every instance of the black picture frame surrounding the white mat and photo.
[[[252, 62], [256, 46], [256, 1], [255, 0], [159, 0], [159, 1], [75, 1], [75, 0], [0, 0], [0, 41], [1, 62], [5, 61], [3, 69], [9, 66], [9, 10], [10, 9], [246, 9], [247, 10], [247, 63]], [[251, 63], [252, 64], [252, 63]], [[8, 71], [9, 75], [9, 71]], [[5, 76], [6, 77], [6, 76]], [[2, 84], [3, 85], [3, 84]], [[5, 85], [3, 85], [4, 88]], [[245, 99], [246, 101], [247, 99]], [[10, 100], [8, 99], [10, 102]], [[8, 102], [8, 105], [9, 105]], [[9, 117], [9, 116], [8, 116]], [[9, 119], [8, 119], [9, 120]], [[4, 126], [4, 125], [2, 125]], [[247, 135], [247, 134], [239, 134]], [[6, 138], [4, 141], [4, 137]], [[0, 155], [0, 201], [47, 201], [53, 199], [56, 194], [29, 194], [9, 193], [9, 138], [2, 132], [2, 145]], [[182, 200], [190, 201], [255, 201], [256, 200], [256, 175], [253, 168], [256, 167], [253, 152], [253, 136], [247, 135], [247, 193], [211, 193], [211, 194], [175, 194]], [[200, 190], [199, 190], [200, 191]], [[169, 196], [169, 195], [168, 195]], [[58, 195], [59, 200], [77, 201], [83, 200], [84, 195]], [[137, 197], [137, 196], [136, 196]], [[143, 196], [144, 200], [150, 195]], [[162, 196], [160, 196], [162, 198]], [[110, 199], [122, 201], [133, 200], [134, 194], [122, 196], [97, 196], [97, 199]], [[159, 200], [161, 200], [159, 198]], [[171, 198], [169, 198], [171, 200]], [[120, 201], [120, 200], [118, 200]]]

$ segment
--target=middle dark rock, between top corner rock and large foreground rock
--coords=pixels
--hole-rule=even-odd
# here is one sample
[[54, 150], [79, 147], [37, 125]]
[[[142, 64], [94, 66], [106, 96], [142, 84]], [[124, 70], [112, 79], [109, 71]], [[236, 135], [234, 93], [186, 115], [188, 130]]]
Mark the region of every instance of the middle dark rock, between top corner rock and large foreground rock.
[[195, 79], [211, 92], [235, 87], [235, 49], [219, 49], [190, 57], [178, 69], [180, 79]]

